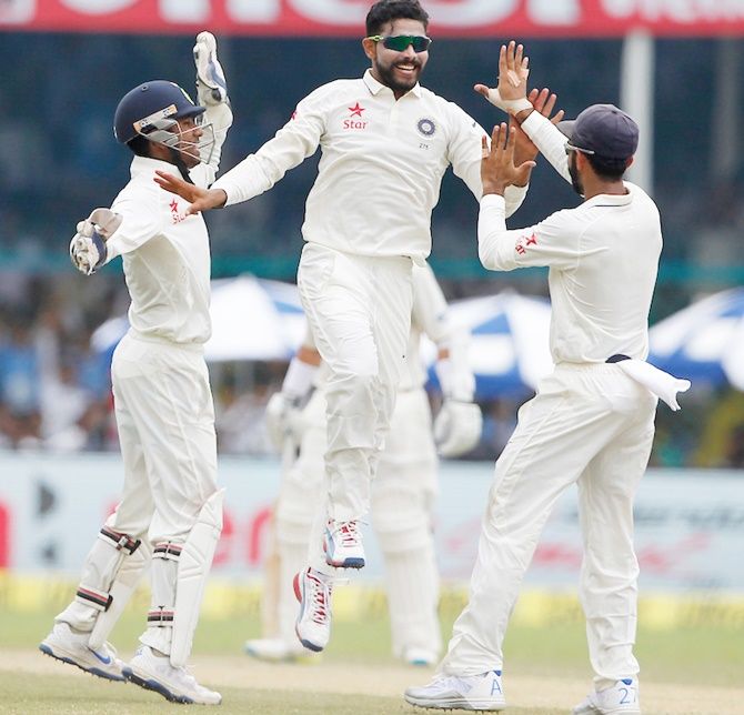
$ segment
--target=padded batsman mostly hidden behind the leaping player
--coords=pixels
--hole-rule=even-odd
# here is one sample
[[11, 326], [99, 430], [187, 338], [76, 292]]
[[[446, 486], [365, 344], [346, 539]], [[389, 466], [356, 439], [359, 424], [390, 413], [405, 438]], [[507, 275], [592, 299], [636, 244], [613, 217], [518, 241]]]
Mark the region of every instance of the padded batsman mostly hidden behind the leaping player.
[[[434, 425], [424, 390], [423, 335], [436, 345], [435, 369], [444, 399]], [[312, 350], [311, 339], [309, 335], [303, 349]], [[296, 602], [292, 581], [308, 558], [315, 566], [322, 562], [321, 534], [315, 533], [318, 523], [313, 532], [313, 513], [309, 505], [318, 505], [316, 513], [324, 514], [321, 506], [328, 374], [322, 364], [319, 370], [309, 366], [309, 363], [316, 364], [316, 360], [304, 358], [303, 364], [295, 362], [304, 355], [301, 350], [293, 359], [282, 391], [272, 395], [267, 409], [267, 423], [272, 425], [277, 442], [284, 446], [285, 440], [296, 439], [300, 454], [282, 477], [274, 508], [279, 584], [277, 603], [268, 606], [278, 612], [277, 634], [245, 644], [250, 655], [264, 659], [291, 659], [306, 654], [295, 635]], [[413, 665], [434, 664], [442, 647], [432, 523], [438, 492], [436, 453], [456, 456], [477, 443], [482, 415], [473, 403], [474, 387], [475, 379], [467, 362], [467, 332], [450, 320], [444, 294], [429, 264], [416, 265], [403, 376], [371, 493], [372, 525], [385, 563], [393, 654]], [[293, 414], [288, 406], [302, 404], [311, 391], [306, 406], [300, 414]], [[325, 600], [330, 621], [330, 585]]]

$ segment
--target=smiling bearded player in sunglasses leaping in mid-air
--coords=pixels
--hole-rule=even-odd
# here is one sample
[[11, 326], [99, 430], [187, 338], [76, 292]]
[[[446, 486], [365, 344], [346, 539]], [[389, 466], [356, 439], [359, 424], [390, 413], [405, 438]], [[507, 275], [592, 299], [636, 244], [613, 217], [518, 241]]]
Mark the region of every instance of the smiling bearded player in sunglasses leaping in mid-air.
[[[429, 59], [428, 21], [418, 0], [375, 3], [362, 40], [372, 67], [361, 79], [336, 80], [309, 94], [273, 139], [210, 191], [161, 177], [161, 185], [193, 202], [190, 211], [203, 211], [268, 191], [321, 149], [298, 272], [302, 304], [329, 370], [321, 580], [334, 567], [364, 565], [356, 524], [369, 508], [405, 355], [411, 266], [431, 251], [431, 212], [448, 165], [481, 197], [485, 132], [418, 82]], [[525, 191], [510, 188], [509, 213]], [[303, 602], [312, 607], [316, 584], [305, 581]]]

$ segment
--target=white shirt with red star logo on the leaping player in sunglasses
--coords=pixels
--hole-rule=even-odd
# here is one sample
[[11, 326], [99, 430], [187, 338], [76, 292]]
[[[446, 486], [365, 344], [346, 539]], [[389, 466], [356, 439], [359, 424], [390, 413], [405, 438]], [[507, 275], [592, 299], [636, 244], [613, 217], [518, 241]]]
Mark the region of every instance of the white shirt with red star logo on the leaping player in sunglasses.
[[[431, 251], [431, 212], [451, 164], [480, 199], [483, 129], [456, 104], [416, 84], [395, 100], [368, 70], [363, 78], [320, 87], [254, 154], [213, 185], [227, 205], [269, 190], [321, 148], [308, 195], [305, 241], [361, 255]], [[509, 193], [510, 213], [526, 189]]]

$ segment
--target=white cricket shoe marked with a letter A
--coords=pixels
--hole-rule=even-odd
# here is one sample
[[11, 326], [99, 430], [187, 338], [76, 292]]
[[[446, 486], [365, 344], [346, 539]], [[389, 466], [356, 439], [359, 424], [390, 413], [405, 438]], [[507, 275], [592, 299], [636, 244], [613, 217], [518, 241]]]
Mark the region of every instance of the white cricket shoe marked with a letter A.
[[502, 711], [506, 707], [501, 671], [481, 675], [439, 675], [429, 685], [409, 687], [405, 702], [432, 709]]

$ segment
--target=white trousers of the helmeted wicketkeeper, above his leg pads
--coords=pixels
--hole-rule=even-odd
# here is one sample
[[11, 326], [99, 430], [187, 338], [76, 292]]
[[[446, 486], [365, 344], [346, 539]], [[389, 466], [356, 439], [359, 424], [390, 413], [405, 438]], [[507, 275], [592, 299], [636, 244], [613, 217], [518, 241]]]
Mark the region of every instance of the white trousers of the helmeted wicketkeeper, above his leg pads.
[[107, 525], [183, 542], [217, 492], [217, 437], [201, 345], [128, 333], [111, 364], [124, 489]]

